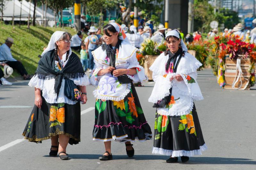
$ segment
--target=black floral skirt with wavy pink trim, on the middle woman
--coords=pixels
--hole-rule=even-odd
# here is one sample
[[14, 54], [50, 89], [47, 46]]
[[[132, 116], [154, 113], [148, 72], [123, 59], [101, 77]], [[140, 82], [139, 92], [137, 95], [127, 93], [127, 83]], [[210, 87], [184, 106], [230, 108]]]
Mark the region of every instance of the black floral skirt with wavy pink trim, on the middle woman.
[[95, 104], [94, 141], [143, 142], [152, 138], [140, 101], [132, 84], [121, 101], [97, 99]]

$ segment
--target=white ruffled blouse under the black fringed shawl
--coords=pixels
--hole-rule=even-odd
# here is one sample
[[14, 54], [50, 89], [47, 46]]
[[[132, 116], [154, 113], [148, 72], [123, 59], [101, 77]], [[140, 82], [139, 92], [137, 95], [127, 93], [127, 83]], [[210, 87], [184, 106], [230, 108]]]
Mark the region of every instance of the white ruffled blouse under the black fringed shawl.
[[[62, 57], [62, 63], [63, 63], [63, 66], [65, 66], [68, 62], [65, 61], [66, 60], [66, 54], [63, 55]], [[65, 62], [64, 62], [65, 61]], [[57, 61], [55, 61], [55, 69], [58, 71], [60, 70], [57, 66]], [[88, 77], [85, 75], [84, 77], [78, 77], [78, 78], [75, 78], [75, 79], [70, 79], [70, 80], [73, 80], [74, 83], [78, 86], [87, 86], [89, 85], [89, 79]], [[59, 92], [59, 96], [58, 96], [58, 99], [57, 99], [57, 94], [54, 93], [54, 83], [55, 80], [52, 78], [52, 79], [39, 79], [37, 75], [34, 75], [31, 80], [29, 81], [28, 85], [30, 87], [36, 87], [38, 89], [41, 89], [42, 90], [42, 96], [44, 97], [45, 101], [47, 103], [67, 103], [67, 104], [76, 104], [77, 101], [72, 101], [70, 99], [68, 99], [68, 97], [65, 96], [64, 94], [64, 85], [65, 85], [65, 79], [62, 79], [62, 82], [61, 82], [61, 87], [60, 87], [60, 92]]]

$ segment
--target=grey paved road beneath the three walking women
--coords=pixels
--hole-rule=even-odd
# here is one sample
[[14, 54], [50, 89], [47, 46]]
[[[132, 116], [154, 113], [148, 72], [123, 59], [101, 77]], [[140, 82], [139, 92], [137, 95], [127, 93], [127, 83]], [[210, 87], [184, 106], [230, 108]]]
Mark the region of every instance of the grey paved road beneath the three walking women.
[[[21, 133], [32, 108], [3, 108], [3, 106], [32, 106], [33, 88], [28, 81], [18, 81], [13, 86], [0, 86], [0, 170], [9, 169], [255, 169], [256, 167], [256, 88], [247, 91], [223, 90], [210, 70], [198, 72], [197, 81], [204, 95], [196, 102], [204, 140], [208, 150], [203, 155], [190, 158], [186, 164], [165, 163], [167, 156], [152, 155], [153, 141], [134, 143], [135, 156], [126, 156], [124, 144], [113, 142], [113, 160], [102, 162], [102, 142], [92, 141], [94, 110], [81, 116], [81, 143], [68, 145], [72, 159], [60, 161], [48, 156], [50, 140], [42, 144], [20, 142]], [[141, 106], [152, 130], [155, 109], [148, 103], [154, 83], [136, 87]], [[87, 87], [88, 102], [81, 111], [94, 107], [93, 87]], [[12, 143], [16, 142], [17, 144]], [[7, 145], [6, 145], [7, 144]], [[13, 146], [9, 147], [10, 145]], [[4, 148], [7, 148], [3, 150]], [[2, 151], [1, 151], [2, 150]]]

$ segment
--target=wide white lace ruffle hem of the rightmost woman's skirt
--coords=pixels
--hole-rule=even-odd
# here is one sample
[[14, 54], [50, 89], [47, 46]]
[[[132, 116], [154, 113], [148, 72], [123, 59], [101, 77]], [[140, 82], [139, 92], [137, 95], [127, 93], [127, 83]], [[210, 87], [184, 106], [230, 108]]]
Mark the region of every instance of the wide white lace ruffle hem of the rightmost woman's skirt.
[[202, 155], [202, 151], [205, 151], [205, 150], [207, 150], [207, 146], [204, 143], [204, 145], [200, 146], [200, 149], [198, 149], [198, 150], [192, 150], [192, 151], [185, 151], [185, 150], [173, 151], [173, 150], [166, 150], [166, 149], [163, 149], [163, 148], [153, 147], [152, 153], [153, 154], [166, 155], [166, 156], [171, 156], [172, 155], [172, 157], [180, 157], [180, 156], [192, 157], [194, 155]]

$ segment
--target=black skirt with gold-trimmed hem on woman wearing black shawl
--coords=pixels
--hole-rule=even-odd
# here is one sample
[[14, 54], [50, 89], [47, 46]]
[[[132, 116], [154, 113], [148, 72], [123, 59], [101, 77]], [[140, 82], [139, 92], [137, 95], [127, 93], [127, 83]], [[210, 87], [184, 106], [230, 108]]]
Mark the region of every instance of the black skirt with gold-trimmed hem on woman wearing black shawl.
[[42, 143], [42, 140], [64, 134], [69, 136], [69, 144], [80, 142], [81, 109], [76, 104], [49, 104], [42, 97], [41, 109], [34, 106], [23, 136], [30, 142]]

